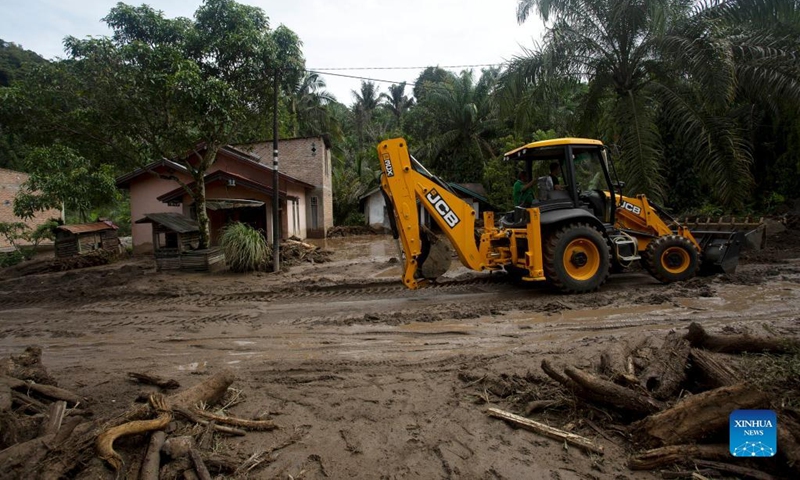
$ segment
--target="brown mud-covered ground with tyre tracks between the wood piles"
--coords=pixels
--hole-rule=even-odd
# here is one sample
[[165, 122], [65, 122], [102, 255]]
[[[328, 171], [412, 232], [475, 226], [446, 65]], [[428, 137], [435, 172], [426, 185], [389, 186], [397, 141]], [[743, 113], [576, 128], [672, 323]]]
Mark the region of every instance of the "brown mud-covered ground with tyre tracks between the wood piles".
[[[127, 372], [189, 386], [232, 368], [243, 401], [228, 412], [281, 428], [218, 437], [214, 448], [249, 455], [286, 445], [252, 478], [660, 478], [627, 469], [631, 447], [600, 410], [594, 423], [608, 428], [604, 436], [569, 409], [534, 418], [596, 440], [603, 457], [485, 409], [524, 413], [527, 402], [563, 395], [541, 373], [542, 359], [589, 368], [611, 342], [660, 341], [693, 321], [797, 337], [795, 234], [745, 255], [735, 275], [661, 285], [631, 272], [577, 296], [456, 265], [440, 283], [409, 291], [383, 236], [328, 240], [333, 262], [280, 275], [157, 273], [149, 258], [0, 272], [0, 356], [41, 346], [59, 385], [89, 397], [95, 417], [147, 390]], [[141, 445], [120, 448], [134, 471]]]

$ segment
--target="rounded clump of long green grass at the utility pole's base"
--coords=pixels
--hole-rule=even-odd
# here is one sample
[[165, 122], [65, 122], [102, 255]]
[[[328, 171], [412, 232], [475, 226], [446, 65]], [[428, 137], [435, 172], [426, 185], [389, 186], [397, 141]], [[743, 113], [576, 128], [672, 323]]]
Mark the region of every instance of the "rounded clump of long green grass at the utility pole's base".
[[264, 270], [271, 261], [272, 252], [264, 235], [249, 225], [236, 222], [225, 227], [221, 244], [231, 271]]

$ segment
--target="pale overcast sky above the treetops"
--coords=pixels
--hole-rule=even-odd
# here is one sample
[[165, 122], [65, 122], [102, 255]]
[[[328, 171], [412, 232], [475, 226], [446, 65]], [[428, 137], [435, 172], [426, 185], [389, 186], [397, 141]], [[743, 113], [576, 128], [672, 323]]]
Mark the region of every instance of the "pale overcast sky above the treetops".
[[[109, 35], [101, 19], [114, 0], [0, 0], [0, 38], [46, 58], [63, 57], [72, 35]], [[167, 17], [189, 17], [200, 0], [147, 3]], [[240, 0], [260, 7], [271, 28], [284, 24], [303, 41], [306, 67], [425, 67], [496, 64], [530, 48], [542, 23], [516, 21], [517, 0]], [[459, 69], [453, 69], [458, 71]], [[335, 73], [407, 81], [420, 70], [345, 70]], [[347, 105], [360, 80], [325, 76], [328, 90]], [[387, 83], [378, 84], [385, 91]], [[407, 90], [410, 95], [410, 89]]]

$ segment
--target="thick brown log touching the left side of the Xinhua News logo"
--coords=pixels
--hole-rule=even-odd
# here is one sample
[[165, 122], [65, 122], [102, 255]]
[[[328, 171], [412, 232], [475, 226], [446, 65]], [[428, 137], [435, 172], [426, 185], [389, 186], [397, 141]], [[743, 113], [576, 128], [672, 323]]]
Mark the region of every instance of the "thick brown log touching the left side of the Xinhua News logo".
[[763, 408], [769, 397], [751, 385], [738, 384], [717, 388], [687, 397], [672, 408], [631, 425], [631, 432], [641, 445], [656, 447], [693, 442], [727, 428], [734, 410]]

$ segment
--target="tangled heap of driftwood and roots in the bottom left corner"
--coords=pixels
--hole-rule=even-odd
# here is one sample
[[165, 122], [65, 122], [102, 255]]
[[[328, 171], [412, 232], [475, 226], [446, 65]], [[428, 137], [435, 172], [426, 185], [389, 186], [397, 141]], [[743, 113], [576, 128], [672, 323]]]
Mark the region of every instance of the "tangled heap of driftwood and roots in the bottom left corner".
[[[122, 414], [87, 421], [78, 407], [86, 405], [91, 408], [89, 400], [68, 390], [31, 380], [33, 377], [51, 379], [41, 364], [41, 349], [31, 347], [22, 355], [4, 360], [1, 365], [2, 478], [72, 478], [81, 471], [81, 475], [87, 478], [107, 477], [110, 471], [106, 469], [103, 472], [106, 467], [97, 463], [97, 459], [101, 459], [120, 477], [135, 477], [138, 473], [139, 478], [154, 480], [191, 477], [194, 474], [200, 479], [210, 479], [212, 472], [215, 475], [232, 474], [240, 469], [249, 471], [270, 462], [268, 456], [259, 457], [257, 463], [248, 463], [243, 458], [219, 454], [214, 451], [215, 442], [210, 439], [196, 442], [193, 436], [183, 435], [186, 428], [175, 423], [174, 414], [178, 413], [189, 426], [205, 426], [200, 429], [200, 437], [214, 434], [245, 435], [247, 430], [279, 428], [271, 420], [236, 418], [198, 408], [222, 400], [234, 381], [230, 371], [219, 372], [168, 397], [153, 393], [148, 404], [132, 405]], [[154, 375], [130, 373], [129, 376], [160, 388], [178, 386], [174, 380]], [[237, 395], [239, 397], [241, 395]], [[27, 419], [34, 421], [28, 422]], [[26, 432], [12, 432], [12, 427], [18, 430], [20, 425], [28, 425]], [[197, 432], [197, 429], [188, 431]], [[140, 435], [147, 432], [152, 432], [149, 439]], [[147, 440], [146, 445], [142, 445], [143, 454], [135, 457], [141, 461], [125, 460], [136, 442], [124, 442], [124, 451], [115, 450], [114, 443], [124, 436]], [[292, 436], [291, 443], [297, 440], [297, 436]], [[187, 473], [189, 471], [194, 473]], [[165, 472], [168, 473], [166, 476]]]

